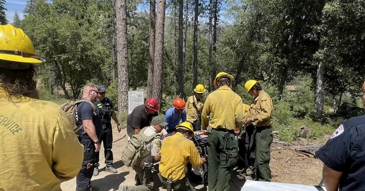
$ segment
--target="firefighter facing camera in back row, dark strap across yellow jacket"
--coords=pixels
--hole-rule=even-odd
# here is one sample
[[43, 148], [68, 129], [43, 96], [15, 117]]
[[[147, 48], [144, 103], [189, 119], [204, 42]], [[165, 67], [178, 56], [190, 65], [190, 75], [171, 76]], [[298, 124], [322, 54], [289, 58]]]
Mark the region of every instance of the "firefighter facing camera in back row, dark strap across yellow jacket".
[[186, 121], [193, 125], [194, 131], [201, 129], [201, 111], [203, 111], [203, 93], [207, 91], [203, 84], [196, 85], [195, 95], [190, 96], [186, 101]]

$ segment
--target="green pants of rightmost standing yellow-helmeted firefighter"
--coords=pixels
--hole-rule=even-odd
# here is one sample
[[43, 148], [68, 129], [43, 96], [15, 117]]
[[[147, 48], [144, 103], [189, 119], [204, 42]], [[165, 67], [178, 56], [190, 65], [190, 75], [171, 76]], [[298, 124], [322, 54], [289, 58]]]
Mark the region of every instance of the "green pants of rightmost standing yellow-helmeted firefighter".
[[256, 127], [252, 134], [250, 148], [254, 148], [250, 158], [254, 161], [253, 170], [258, 181], [271, 182], [270, 145], [273, 142], [273, 130], [268, 127]]

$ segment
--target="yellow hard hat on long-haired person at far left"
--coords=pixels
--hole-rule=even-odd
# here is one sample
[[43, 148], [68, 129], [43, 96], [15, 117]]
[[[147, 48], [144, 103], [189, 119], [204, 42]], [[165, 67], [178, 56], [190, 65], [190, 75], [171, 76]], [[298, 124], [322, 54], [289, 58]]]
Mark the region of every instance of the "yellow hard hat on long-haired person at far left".
[[20, 28], [11, 24], [0, 25], [0, 59], [22, 63], [42, 63], [35, 55], [32, 41]]

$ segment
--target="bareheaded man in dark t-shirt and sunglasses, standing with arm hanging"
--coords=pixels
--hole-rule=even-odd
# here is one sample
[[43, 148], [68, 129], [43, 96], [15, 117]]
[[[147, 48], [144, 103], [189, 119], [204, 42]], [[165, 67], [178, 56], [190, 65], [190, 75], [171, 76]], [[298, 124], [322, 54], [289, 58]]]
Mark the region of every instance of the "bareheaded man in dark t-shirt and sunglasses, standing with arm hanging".
[[[79, 140], [84, 145], [84, 161], [80, 172], [76, 176], [76, 191], [94, 191], [99, 190], [91, 186], [91, 177], [95, 165], [95, 152], [100, 150], [100, 141], [98, 137], [101, 133], [101, 117], [99, 108], [95, 108], [93, 103], [97, 97], [97, 88], [94, 85], [85, 85], [82, 98], [87, 102], [81, 102], [77, 105], [76, 123], [81, 126], [79, 131]], [[95, 112], [94, 112], [95, 108]]]

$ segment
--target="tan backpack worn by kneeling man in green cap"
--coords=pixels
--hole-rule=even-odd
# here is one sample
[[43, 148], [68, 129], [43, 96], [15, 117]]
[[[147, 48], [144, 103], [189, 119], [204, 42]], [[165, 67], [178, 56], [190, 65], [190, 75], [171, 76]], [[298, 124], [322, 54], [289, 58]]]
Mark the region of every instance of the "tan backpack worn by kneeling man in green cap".
[[145, 132], [147, 128], [149, 128], [149, 126], [144, 127], [138, 133], [138, 135], [133, 135], [126, 148], [122, 152], [122, 162], [127, 167], [139, 166], [141, 160], [150, 155], [142, 155], [143, 151], [146, 150], [146, 145], [153, 139], [160, 137], [160, 134], [157, 133], [146, 136], [143, 132]]

